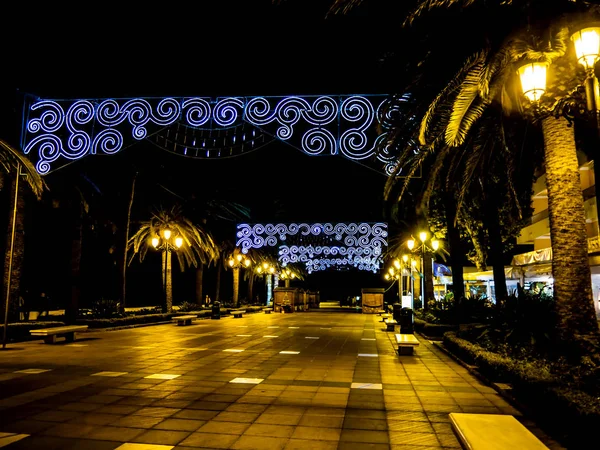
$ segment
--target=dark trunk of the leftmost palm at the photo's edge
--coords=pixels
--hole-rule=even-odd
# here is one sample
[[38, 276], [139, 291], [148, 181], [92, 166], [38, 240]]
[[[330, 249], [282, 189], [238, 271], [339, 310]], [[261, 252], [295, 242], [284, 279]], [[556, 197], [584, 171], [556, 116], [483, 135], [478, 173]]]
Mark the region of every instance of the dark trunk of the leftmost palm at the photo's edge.
[[[14, 321], [19, 317], [19, 291], [21, 289], [21, 275], [23, 271], [23, 261], [25, 257], [25, 197], [24, 197], [24, 183], [17, 183], [17, 177], [19, 173], [11, 180], [10, 198], [13, 199], [13, 207], [9, 211], [8, 219], [8, 230], [6, 233], [6, 253], [4, 254], [4, 276], [3, 276], [3, 293], [9, 290], [9, 304], [8, 304], [8, 317], [9, 321]], [[17, 187], [18, 185], [18, 187]], [[15, 192], [18, 189], [18, 192]], [[13, 229], [13, 215], [14, 215], [14, 242], [12, 261], [10, 260], [10, 248], [11, 248], [11, 236]], [[10, 286], [9, 286], [9, 270], [10, 272]], [[2, 302], [2, 313], [5, 312], [6, 298]]]

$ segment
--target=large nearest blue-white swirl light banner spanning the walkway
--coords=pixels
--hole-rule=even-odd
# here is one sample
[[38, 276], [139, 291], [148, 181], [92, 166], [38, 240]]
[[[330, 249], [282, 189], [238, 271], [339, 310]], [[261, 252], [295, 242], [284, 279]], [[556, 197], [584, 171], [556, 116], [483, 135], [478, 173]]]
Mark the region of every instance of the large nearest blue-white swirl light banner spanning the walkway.
[[308, 155], [374, 157], [389, 165], [389, 155], [376, 152], [389, 128], [379, 112], [387, 99], [385, 95], [34, 99], [25, 111], [22, 148], [37, 155], [36, 168], [46, 174], [60, 158], [117, 153], [175, 123], [215, 130], [247, 122]]

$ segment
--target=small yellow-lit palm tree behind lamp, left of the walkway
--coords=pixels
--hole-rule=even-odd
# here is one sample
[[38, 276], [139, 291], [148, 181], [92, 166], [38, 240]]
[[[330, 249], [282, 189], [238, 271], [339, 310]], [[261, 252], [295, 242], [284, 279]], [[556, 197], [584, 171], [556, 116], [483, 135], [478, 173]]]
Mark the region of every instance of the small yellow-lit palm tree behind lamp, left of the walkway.
[[[164, 230], [169, 230], [169, 236], [164, 235]], [[155, 247], [153, 239], [164, 236], [181, 238], [182, 245], [175, 251], [179, 266], [183, 271], [185, 267], [197, 267], [198, 264], [209, 264], [219, 258], [219, 248], [212, 235], [204, 228], [195, 225], [183, 216], [181, 208], [175, 206], [170, 210], [159, 209], [152, 214], [150, 220], [140, 224], [138, 231], [129, 239], [128, 249], [133, 249], [130, 263], [136, 254], [140, 261], [145, 258], [148, 249]], [[171, 245], [171, 247], [169, 247]], [[171, 253], [172, 244], [164, 243], [162, 252], [163, 288], [165, 289], [164, 311], [171, 312], [173, 305], [173, 292], [171, 284]]]

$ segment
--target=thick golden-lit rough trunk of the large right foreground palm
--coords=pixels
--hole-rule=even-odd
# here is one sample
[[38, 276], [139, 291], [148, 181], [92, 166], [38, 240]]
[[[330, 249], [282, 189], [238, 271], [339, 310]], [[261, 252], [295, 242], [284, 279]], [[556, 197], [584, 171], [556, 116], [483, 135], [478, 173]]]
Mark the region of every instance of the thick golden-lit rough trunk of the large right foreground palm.
[[565, 350], [581, 352], [598, 342], [599, 330], [575, 136], [562, 118], [547, 117], [542, 128], [558, 331]]

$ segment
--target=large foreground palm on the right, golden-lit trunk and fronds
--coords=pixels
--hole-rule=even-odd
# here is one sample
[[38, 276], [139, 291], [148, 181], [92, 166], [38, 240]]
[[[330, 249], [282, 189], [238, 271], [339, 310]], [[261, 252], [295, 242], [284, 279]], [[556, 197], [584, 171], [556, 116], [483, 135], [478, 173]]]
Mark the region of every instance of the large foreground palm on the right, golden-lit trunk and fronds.
[[[421, 1], [408, 22], [412, 23], [436, 7], [449, 8], [463, 4], [481, 6], [482, 3], [477, 0]], [[494, 2], [485, 3], [493, 9], [490, 3]], [[566, 65], [570, 35], [568, 25], [579, 12], [575, 8], [587, 8], [588, 20], [598, 16], [598, 7], [585, 2], [555, 0], [540, 5], [533, 0], [515, 0], [499, 1], [496, 5], [510, 9], [515, 15], [517, 20], [507, 24], [518, 25], [519, 20], [525, 17], [529, 25], [516, 31], [507, 25], [505, 39], [500, 45], [494, 42], [494, 45], [482, 48], [466, 61], [424, 115], [421, 145], [429, 149], [460, 147], [471, 130], [477, 128], [489, 107], [501, 105], [506, 111], [519, 111], [520, 102], [515, 98], [516, 64], [529, 60], [553, 62], [554, 67]], [[558, 15], [558, 12], [573, 15]], [[499, 22], [502, 23], [502, 20]], [[449, 50], [445, 47], [446, 52]], [[573, 73], [568, 70], [555, 71], [554, 85], [549, 86], [545, 96], [550, 106], [565, 90], [569, 91], [580, 83], [572, 75], [567, 75]], [[590, 353], [590, 343], [598, 344], [599, 330], [592, 300], [574, 131], [567, 120], [561, 117], [547, 116], [541, 120], [541, 125], [553, 251], [552, 271], [559, 314], [558, 331], [565, 344], [565, 353], [577, 357], [582, 353]]]

